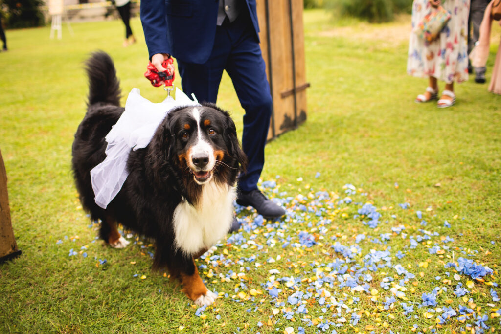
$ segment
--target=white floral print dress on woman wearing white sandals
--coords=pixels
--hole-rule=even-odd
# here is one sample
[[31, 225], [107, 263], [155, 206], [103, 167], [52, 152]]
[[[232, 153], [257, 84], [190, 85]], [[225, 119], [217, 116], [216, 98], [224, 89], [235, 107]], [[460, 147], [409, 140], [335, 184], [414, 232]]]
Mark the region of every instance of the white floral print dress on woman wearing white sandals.
[[448, 84], [468, 80], [469, 4], [469, 0], [442, 0], [442, 7], [451, 14], [450, 21], [436, 40], [427, 42], [414, 30], [432, 8], [428, 0], [414, 0], [407, 58], [409, 75], [435, 77]]

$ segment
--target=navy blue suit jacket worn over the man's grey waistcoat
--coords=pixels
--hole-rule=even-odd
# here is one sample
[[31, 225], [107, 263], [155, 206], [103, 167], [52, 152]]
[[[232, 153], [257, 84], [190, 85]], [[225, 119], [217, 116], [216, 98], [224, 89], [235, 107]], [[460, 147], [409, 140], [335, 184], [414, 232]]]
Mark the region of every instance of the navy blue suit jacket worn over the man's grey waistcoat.
[[[244, 0], [259, 42], [256, 0]], [[203, 64], [214, 46], [219, 0], [143, 0], [141, 23], [149, 57], [169, 54]], [[241, 13], [246, 14], [246, 13]]]

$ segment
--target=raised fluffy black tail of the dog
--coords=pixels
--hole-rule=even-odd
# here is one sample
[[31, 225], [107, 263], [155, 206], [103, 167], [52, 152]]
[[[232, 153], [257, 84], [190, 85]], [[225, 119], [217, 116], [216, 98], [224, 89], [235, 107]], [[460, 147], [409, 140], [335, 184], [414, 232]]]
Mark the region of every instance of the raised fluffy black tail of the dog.
[[92, 53], [85, 65], [89, 77], [88, 105], [103, 102], [120, 106], [122, 91], [111, 57], [104, 51], [97, 51]]

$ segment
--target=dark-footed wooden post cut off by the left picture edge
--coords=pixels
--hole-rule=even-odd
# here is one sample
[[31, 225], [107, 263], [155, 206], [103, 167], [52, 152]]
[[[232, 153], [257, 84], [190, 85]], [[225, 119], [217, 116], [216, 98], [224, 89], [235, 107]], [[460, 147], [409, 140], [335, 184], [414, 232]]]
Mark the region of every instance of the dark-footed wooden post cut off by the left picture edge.
[[0, 263], [21, 255], [12, 230], [11, 209], [7, 192], [7, 171], [0, 150]]

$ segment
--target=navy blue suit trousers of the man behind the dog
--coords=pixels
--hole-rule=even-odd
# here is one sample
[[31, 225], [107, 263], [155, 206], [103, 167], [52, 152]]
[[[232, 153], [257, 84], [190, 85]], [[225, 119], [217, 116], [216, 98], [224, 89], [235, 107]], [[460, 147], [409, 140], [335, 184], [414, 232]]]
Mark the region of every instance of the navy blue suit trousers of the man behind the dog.
[[243, 116], [242, 148], [248, 157], [247, 171], [239, 179], [242, 191], [257, 189], [265, 163], [265, 144], [272, 115], [272, 97], [266, 65], [248, 13], [216, 27], [214, 46], [207, 62], [177, 60], [183, 91], [198, 101], [216, 102], [223, 70], [238, 96]]

